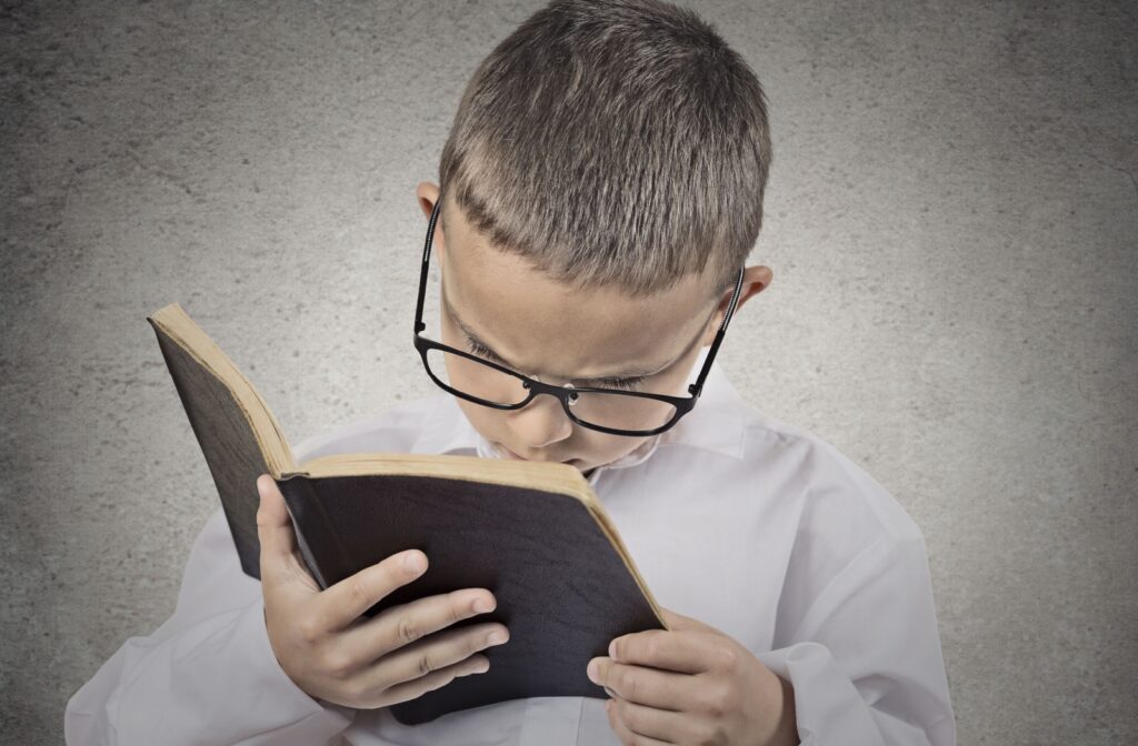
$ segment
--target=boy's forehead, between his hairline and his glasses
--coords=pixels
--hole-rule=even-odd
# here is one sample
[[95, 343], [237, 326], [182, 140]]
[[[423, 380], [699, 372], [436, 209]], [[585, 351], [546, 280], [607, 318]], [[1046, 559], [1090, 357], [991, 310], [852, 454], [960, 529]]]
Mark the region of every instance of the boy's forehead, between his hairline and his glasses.
[[443, 293], [452, 315], [501, 357], [538, 375], [607, 378], [662, 367], [699, 341], [715, 312], [698, 275], [633, 297], [618, 288], [579, 291], [558, 283], [471, 231], [452, 230], [444, 255]]

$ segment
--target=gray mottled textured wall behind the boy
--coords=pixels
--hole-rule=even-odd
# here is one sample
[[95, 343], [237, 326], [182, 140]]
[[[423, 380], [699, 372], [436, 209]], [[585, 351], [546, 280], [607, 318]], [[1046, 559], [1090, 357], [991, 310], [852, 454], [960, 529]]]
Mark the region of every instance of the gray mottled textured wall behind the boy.
[[[148, 313], [294, 442], [434, 392], [413, 189], [538, 5], [2, 3], [0, 740], [61, 743], [217, 504]], [[1133, 743], [1135, 7], [693, 7], [776, 151], [724, 368], [923, 529], [960, 744]]]

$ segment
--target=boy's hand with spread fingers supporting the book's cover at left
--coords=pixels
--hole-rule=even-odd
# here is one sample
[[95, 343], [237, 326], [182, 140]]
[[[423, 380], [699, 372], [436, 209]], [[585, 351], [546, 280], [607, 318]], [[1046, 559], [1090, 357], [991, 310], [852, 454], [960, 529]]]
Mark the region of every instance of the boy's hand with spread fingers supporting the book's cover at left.
[[[501, 631], [504, 643], [509, 632], [503, 624], [438, 631], [493, 611], [488, 590], [439, 594], [368, 619], [363, 613], [376, 602], [422, 574], [423, 553], [401, 552], [320, 590], [304, 565], [277, 482], [262, 474], [257, 490], [265, 628], [281, 669], [308, 696], [357, 710], [384, 707], [489, 668], [486, 656], [475, 653], [492, 645], [486, 638], [493, 631]], [[421, 566], [410, 569], [405, 558], [418, 558]], [[486, 608], [472, 608], [475, 600]]]

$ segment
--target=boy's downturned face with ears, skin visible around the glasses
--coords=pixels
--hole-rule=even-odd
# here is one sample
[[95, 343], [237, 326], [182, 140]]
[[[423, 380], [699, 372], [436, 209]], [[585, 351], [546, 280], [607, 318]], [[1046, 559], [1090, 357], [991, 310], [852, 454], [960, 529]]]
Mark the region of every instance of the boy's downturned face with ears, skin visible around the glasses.
[[[435, 184], [419, 185], [428, 217], [438, 193]], [[732, 289], [709, 299], [706, 279], [688, 275], [640, 299], [615, 289], [575, 291], [490, 248], [453, 205], [443, 213], [446, 232], [436, 225], [432, 251], [442, 279], [439, 341], [470, 351], [464, 326], [497, 354], [480, 356], [546, 383], [604, 386], [591, 381], [653, 372], [635, 390], [688, 396], [692, 367], [715, 339]], [[769, 268], [748, 267], [735, 314], [769, 282]], [[525, 459], [569, 463], [586, 476], [646, 440], [578, 425], [552, 396], [513, 411], [455, 400], [490, 442]]]

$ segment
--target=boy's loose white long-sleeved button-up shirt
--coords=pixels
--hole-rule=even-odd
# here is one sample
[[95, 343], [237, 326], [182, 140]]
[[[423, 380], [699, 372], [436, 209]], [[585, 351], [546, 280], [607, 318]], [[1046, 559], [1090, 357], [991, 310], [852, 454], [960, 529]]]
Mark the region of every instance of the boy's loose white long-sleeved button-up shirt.
[[[498, 456], [446, 392], [295, 448], [298, 463], [348, 451]], [[729, 635], [793, 685], [802, 744], [955, 746], [924, 537], [832, 446], [760, 414], [715, 364], [692, 412], [588, 482], [661, 606]], [[127, 639], [67, 703], [67, 744], [620, 744], [592, 697], [514, 699], [419, 726], [314, 699], [277, 662], [262, 604], [218, 507], [174, 614]]]

